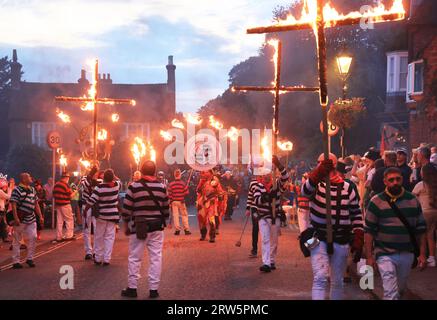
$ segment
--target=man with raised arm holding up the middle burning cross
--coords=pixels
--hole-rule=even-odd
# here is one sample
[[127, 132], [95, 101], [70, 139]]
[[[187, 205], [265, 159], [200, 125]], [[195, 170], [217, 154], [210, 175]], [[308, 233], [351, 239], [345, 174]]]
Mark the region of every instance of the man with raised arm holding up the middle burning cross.
[[[263, 265], [259, 268], [261, 272], [276, 270], [276, 254], [278, 251], [279, 228], [281, 227], [281, 195], [285, 191], [285, 184], [288, 181], [287, 169], [273, 156], [272, 163], [279, 169], [281, 175], [276, 178], [276, 189], [273, 188], [271, 171], [267, 168], [258, 178], [258, 183], [253, 186], [253, 199], [258, 212], [258, 224], [261, 233], [261, 250]], [[275, 202], [275, 217], [273, 218], [273, 200]]]

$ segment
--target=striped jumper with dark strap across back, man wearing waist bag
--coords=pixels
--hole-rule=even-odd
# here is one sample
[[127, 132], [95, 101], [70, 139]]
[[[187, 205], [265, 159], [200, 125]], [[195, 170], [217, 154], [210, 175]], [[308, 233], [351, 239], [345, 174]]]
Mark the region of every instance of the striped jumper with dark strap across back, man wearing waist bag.
[[[152, 200], [144, 184], [147, 184], [159, 206]], [[156, 179], [141, 179], [133, 182], [127, 189], [123, 201], [122, 217], [125, 222], [133, 221], [134, 217], [144, 217], [146, 221], [156, 222], [162, 220], [160, 208], [163, 211], [164, 219], [167, 219], [169, 217], [167, 189]]]

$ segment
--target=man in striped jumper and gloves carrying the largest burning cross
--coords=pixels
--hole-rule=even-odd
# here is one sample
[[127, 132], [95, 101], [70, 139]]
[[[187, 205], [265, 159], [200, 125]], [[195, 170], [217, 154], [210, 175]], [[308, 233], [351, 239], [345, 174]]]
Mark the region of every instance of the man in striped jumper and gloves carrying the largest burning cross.
[[[350, 243], [352, 251], [361, 251], [364, 233], [359, 197], [352, 184], [345, 181], [335, 170], [337, 157], [329, 155], [323, 160], [321, 154], [318, 166], [310, 172], [302, 186], [302, 194], [310, 198], [310, 228], [315, 232], [320, 244], [311, 250], [313, 269], [313, 300], [325, 299], [330, 277], [330, 298], [343, 299], [343, 275], [346, 271]], [[331, 181], [331, 215], [333, 229], [333, 254], [327, 251], [326, 185], [325, 178]]]

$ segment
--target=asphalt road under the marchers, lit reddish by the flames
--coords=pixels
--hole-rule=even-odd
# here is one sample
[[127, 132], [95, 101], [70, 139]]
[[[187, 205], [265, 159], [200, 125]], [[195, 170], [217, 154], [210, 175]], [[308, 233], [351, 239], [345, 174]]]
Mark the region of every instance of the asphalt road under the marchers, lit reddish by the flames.
[[[193, 210], [190, 210], [194, 214]], [[242, 209], [233, 221], [224, 221], [216, 243], [199, 241], [195, 217], [191, 217], [193, 235], [174, 236], [165, 232], [160, 299], [311, 299], [312, 272], [309, 259], [298, 248], [297, 232], [282, 228], [278, 269], [269, 274], [258, 270], [261, 259], [249, 258], [250, 223], [242, 246], [236, 247], [244, 222]], [[127, 284], [128, 240], [117, 234], [109, 267], [96, 267], [84, 261], [83, 242], [78, 240], [60, 247], [51, 244], [38, 248], [36, 268], [0, 272], [0, 299], [123, 299]], [[142, 266], [139, 299], [148, 296], [147, 253]], [[62, 266], [74, 270], [74, 289], [62, 290]], [[369, 299], [356, 284], [346, 286], [347, 299]]]

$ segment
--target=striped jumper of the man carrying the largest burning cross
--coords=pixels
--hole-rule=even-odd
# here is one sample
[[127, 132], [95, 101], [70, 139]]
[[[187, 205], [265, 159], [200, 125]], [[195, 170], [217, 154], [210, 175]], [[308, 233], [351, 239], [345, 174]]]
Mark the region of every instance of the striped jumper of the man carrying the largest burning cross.
[[[340, 193], [338, 189], [340, 188]], [[320, 240], [326, 241], [326, 185], [320, 182], [314, 185], [308, 179], [302, 186], [302, 195], [310, 198], [310, 224], [318, 233]], [[333, 240], [338, 244], [347, 244], [352, 232], [363, 229], [363, 218], [359, 205], [359, 196], [351, 182], [331, 184], [331, 221]]]

